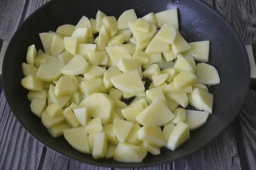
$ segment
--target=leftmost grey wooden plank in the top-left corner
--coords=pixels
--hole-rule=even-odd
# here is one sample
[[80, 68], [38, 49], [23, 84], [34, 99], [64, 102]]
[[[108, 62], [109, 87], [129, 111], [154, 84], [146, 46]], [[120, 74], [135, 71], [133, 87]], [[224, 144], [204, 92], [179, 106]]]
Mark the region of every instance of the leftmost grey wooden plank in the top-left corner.
[[0, 39], [10, 40], [18, 28], [25, 0], [0, 0]]

